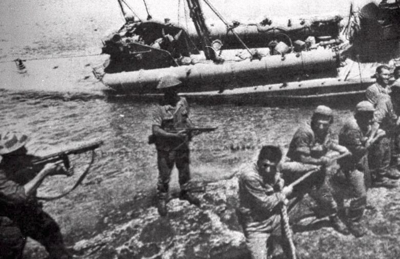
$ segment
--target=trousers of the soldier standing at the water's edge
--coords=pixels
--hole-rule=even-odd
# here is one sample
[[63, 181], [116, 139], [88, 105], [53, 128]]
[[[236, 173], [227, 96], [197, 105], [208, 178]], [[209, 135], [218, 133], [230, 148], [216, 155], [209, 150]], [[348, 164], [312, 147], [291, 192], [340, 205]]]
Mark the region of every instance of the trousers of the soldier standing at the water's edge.
[[182, 191], [186, 191], [190, 180], [189, 156], [189, 149], [174, 151], [157, 150], [157, 194], [159, 198], [167, 197], [169, 181], [174, 165], [176, 165], [176, 169], [178, 170], [179, 186], [181, 186]]

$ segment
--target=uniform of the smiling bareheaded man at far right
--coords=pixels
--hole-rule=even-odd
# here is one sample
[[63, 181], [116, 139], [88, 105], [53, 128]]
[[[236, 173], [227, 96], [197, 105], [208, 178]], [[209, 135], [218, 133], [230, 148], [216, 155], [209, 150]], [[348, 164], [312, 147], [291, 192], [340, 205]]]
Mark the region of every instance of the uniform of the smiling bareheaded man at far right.
[[389, 166], [392, 159], [392, 140], [396, 131], [399, 108], [395, 102], [392, 102], [390, 96], [384, 94], [378, 96], [373, 122], [379, 123], [379, 129], [385, 131], [386, 135], [373, 143], [368, 155], [371, 173], [378, 180], [390, 176], [392, 172], [394, 174]]

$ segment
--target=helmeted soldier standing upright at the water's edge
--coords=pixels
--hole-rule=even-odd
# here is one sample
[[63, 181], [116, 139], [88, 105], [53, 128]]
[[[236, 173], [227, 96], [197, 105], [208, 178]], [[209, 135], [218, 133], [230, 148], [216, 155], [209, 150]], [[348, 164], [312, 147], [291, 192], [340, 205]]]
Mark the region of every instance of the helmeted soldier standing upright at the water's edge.
[[167, 198], [169, 181], [174, 164], [178, 170], [181, 193], [179, 198], [188, 200], [191, 204], [199, 206], [200, 201], [188, 190], [190, 180], [189, 170], [189, 141], [183, 131], [172, 133], [177, 129], [192, 127], [189, 120], [189, 105], [185, 98], [176, 93], [177, 82], [174, 79], [163, 81], [164, 99], [162, 105], [157, 105], [153, 112], [152, 133], [155, 136], [157, 149], [157, 210], [161, 216], [167, 215]]

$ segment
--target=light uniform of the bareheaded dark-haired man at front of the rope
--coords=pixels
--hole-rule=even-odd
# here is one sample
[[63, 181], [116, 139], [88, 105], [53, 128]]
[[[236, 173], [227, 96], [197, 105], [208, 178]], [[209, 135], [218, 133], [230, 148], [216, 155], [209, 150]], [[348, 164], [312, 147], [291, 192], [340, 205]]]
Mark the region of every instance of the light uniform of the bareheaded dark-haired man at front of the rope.
[[256, 164], [239, 176], [238, 216], [252, 259], [267, 259], [267, 243], [273, 232], [276, 238], [281, 238], [284, 251], [289, 251], [286, 239], [278, 231], [281, 222], [279, 205], [286, 197], [278, 192], [277, 185], [277, 182], [266, 182], [259, 175]]

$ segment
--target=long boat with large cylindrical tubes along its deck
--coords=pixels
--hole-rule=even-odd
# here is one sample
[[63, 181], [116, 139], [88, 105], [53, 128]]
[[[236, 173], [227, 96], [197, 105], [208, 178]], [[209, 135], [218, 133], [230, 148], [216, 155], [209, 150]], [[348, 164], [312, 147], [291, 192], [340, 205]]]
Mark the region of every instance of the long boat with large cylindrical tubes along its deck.
[[398, 0], [351, 8], [345, 24], [339, 15], [228, 23], [203, 1], [225, 31], [206, 23], [197, 0], [187, 0], [195, 32], [168, 20], [142, 21], [118, 0], [126, 24], [104, 40], [110, 58], [94, 69], [96, 77], [131, 95], [159, 94], [182, 82], [179, 92], [193, 98], [331, 98], [361, 96], [374, 82], [377, 62], [394, 64], [399, 57]]

